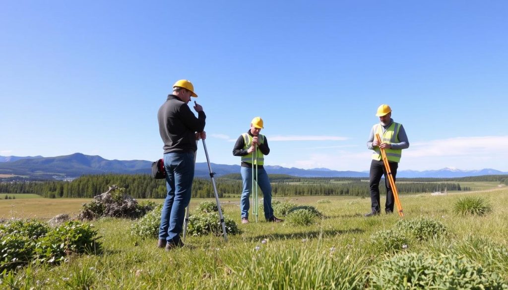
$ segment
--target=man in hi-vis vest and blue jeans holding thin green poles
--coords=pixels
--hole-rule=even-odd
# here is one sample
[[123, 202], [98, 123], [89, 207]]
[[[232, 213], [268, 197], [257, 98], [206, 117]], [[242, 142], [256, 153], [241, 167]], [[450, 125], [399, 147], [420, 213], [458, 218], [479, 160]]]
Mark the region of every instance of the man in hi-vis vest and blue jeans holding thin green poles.
[[[235, 147], [233, 148], [233, 155], [241, 156], [242, 163], [240, 173], [242, 175], [242, 196], [240, 198], [240, 210], [242, 223], [249, 222], [249, 196], [252, 188], [252, 174], [257, 176], [256, 182], [258, 183], [261, 191], [263, 191], [263, 208], [265, 211], [265, 218], [267, 221], [281, 222], [282, 219], [276, 218], [273, 215], [272, 209], [272, 186], [268, 174], [263, 168], [264, 155], [270, 153], [268, 147], [268, 140], [264, 135], [259, 134], [263, 127], [263, 119], [261, 117], [255, 117], [250, 122], [250, 129], [247, 133], [243, 133], [236, 140]], [[252, 154], [257, 150], [257, 159], [254, 159], [255, 168], [252, 167]], [[256, 161], [257, 160], [257, 161]], [[257, 175], [255, 170], [258, 170]]]

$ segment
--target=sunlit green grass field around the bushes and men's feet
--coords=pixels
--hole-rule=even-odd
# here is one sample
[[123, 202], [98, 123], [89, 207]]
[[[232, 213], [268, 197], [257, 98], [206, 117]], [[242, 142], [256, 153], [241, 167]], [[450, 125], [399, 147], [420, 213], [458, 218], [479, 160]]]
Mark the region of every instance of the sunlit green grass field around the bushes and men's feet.
[[[454, 204], [461, 197], [466, 196], [485, 198], [492, 205], [492, 212], [483, 217], [455, 215]], [[265, 221], [241, 224], [238, 199], [229, 201], [223, 199], [221, 202], [223, 202], [225, 215], [232, 217], [239, 224], [242, 234], [230, 235], [228, 242], [217, 236], [190, 236], [185, 240], [183, 248], [169, 252], [156, 248], [155, 238], [142, 239], [132, 236], [130, 227], [136, 221], [112, 218], [97, 220], [92, 224], [102, 237], [104, 249], [102, 253], [74, 256], [69, 262], [59, 266], [29, 266], [19, 270], [10, 283], [16, 283], [20, 289], [30, 287], [37, 289], [404, 289], [410, 287], [404, 287], [399, 284], [402, 282], [396, 282], [392, 278], [383, 284], [383, 279], [389, 277], [390, 273], [406, 271], [408, 266], [404, 264], [404, 261], [414, 254], [422, 255], [423, 258], [413, 263], [427, 261], [425, 259], [430, 259], [429, 257], [467, 259], [467, 263], [472, 265], [468, 271], [482, 267], [482, 271], [489, 275], [497, 275], [495, 277], [500, 277], [499, 279], [508, 287], [508, 263], [506, 263], [508, 261], [506, 260], [508, 259], [506, 242], [508, 189], [506, 187], [492, 191], [453, 193], [447, 196], [431, 196], [430, 194], [401, 196], [400, 201], [405, 215], [403, 218], [397, 214], [364, 217], [363, 213], [369, 211], [370, 199], [358, 197], [275, 197], [274, 199], [291, 200], [300, 205], [314, 206], [322, 211], [325, 217], [309, 227], [292, 227], [284, 223]], [[318, 200], [329, 200], [330, 203], [318, 204]], [[41, 204], [46, 201], [47, 204]], [[194, 208], [202, 201], [193, 200], [192, 207]], [[50, 208], [57, 207], [63, 211], [77, 212], [79, 205], [86, 200], [39, 199], [21, 202], [21, 200], [0, 201], [0, 210], [4, 213], [4, 203], [7, 207], [9, 207], [8, 203], [13, 203], [11, 206], [18, 210], [17, 217], [43, 216]], [[383, 198], [381, 202], [384, 203]], [[23, 210], [19, 211], [20, 209]], [[61, 212], [55, 210], [53, 213]], [[409, 239], [399, 250], [385, 248], [391, 243], [389, 239], [376, 243], [375, 238], [384, 235], [385, 231], [393, 230], [397, 221], [421, 217], [442, 223], [448, 234], [422, 241]], [[395, 264], [390, 262], [394, 259], [396, 262], [393, 263], [398, 263], [399, 266], [393, 266]], [[452, 264], [459, 267], [467, 264], [464, 261]], [[429, 262], [429, 265], [434, 264], [439, 265], [439, 263]], [[387, 265], [395, 268], [387, 270], [389, 267]], [[448, 275], [446, 276], [448, 278], [452, 277], [450, 279], [454, 279], [453, 277], [462, 280], [473, 279], [467, 276], [467, 271], [459, 274], [452, 270], [447, 269], [447, 272], [451, 272], [441, 274]], [[422, 275], [418, 277], [423, 279], [425, 275]], [[488, 283], [485, 281], [483, 283]], [[4, 279], [3, 283], [6, 285], [7, 281]], [[421, 285], [415, 288], [429, 287]], [[501, 289], [502, 287], [491, 285], [486, 288]]]

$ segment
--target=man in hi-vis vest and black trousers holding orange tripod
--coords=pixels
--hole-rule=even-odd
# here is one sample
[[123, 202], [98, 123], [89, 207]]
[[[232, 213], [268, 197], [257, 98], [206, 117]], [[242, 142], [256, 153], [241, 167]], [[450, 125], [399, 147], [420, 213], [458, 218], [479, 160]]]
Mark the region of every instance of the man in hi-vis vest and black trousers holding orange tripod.
[[[379, 106], [379, 108], [377, 108], [376, 116], [379, 117], [379, 123], [372, 126], [369, 141], [367, 141], [367, 148], [374, 150], [374, 152], [372, 154], [369, 174], [371, 209], [369, 213], [365, 214], [365, 216], [373, 216], [381, 212], [379, 206], [379, 181], [383, 175], [385, 175], [385, 186], [387, 191], [385, 212], [392, 213], [393, 206], [395, 204], [393, 191], [390, 187], [390, 182], [388, 182], [385, 164], [383, 163], [379, 148], [385, 149], [393, 181], [395, 182], [395, 175], [397, 175], [397, 168], [399, 166], [402, 149], [409, 147], [409, 141], [407, 140], [404, 127], [402, 124], [393, 121], [392, 109], [390, 106], [386, 104]], [[377, 142], [375, 134], [379, 134], [381, 144]]]

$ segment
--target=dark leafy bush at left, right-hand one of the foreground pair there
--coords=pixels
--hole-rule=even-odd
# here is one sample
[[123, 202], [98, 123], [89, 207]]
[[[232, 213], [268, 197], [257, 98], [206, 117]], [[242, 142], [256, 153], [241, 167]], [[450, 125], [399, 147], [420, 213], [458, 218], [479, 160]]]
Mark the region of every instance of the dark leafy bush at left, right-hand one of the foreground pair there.
[[67, 221], [37, 241], [35, 254], [41, 263], [58, 263], [69, 254], [100, 251], [97, 231], [91, 225]]

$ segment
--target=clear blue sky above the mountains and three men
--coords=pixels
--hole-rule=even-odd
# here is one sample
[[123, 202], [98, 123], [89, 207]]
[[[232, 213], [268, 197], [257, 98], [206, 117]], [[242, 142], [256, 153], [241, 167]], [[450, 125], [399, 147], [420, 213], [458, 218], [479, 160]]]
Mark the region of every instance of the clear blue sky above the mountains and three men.
[[508, 171], [506, 19], [505, 1], [8, 0], [0, 155], [155, 160], [157, 110], [189, 79], [212, 163], [239, 164], [261, 116], [266, 164], [368, 170], [386, 103], [399, 170]]

